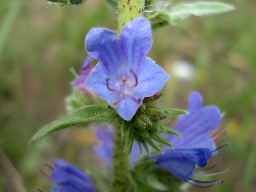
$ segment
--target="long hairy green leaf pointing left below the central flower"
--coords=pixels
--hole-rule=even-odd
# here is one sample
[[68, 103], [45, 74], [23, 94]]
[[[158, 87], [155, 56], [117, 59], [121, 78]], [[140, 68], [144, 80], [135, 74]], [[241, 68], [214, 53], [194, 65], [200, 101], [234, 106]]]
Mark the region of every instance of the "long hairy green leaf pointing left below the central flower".
[[119, 116], [116, 114], [114, 109], [105, 109], [97, 105], [85, 106], [75, 110], [73, 113], [62, 119], [44, 126], [32, 137], [30, 143], [41, 139], [48, 133], [56, 132], [74, 125], [81, 126], [86, 123], [99, 121], [115, 122], [118, 118]]

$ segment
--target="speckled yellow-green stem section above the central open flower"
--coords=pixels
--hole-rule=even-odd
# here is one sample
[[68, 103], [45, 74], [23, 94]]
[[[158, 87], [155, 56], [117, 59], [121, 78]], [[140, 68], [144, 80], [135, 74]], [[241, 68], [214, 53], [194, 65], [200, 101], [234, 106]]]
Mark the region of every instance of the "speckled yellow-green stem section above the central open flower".
[[119, 31], [131, 20], [143, 17], [145, 0], [119, 0], [118, 1], [118, 29]]

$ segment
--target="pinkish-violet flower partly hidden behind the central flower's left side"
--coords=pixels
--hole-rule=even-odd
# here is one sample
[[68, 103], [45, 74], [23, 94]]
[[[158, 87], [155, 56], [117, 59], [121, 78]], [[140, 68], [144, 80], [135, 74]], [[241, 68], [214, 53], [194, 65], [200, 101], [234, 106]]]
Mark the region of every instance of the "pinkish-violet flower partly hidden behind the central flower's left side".
[[79, 77], [77, 77], [74, 81], [71, 82], [71, 85], [79, 89], [80, 91], [83, 92], [83, 94], [87, 95], [93, 94], [94, 93], [84, 84], [88, 75], [92, 72], [93, 66], [92, 66], [92, 61], [94, 60], [93, 57], [87, 56], [84, 60], [84, 63], [81, 67], [81, 74]]

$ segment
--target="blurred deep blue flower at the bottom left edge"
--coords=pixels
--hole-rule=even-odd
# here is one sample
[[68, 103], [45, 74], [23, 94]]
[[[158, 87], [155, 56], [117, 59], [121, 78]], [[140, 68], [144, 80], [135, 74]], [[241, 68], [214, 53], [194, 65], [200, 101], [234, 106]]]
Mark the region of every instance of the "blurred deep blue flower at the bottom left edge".
[[51, 179], [57, 184], [52, 192], [95, 192], [95, 186], [88, 175], [75, 165], [63, 159], [56, 159]]

